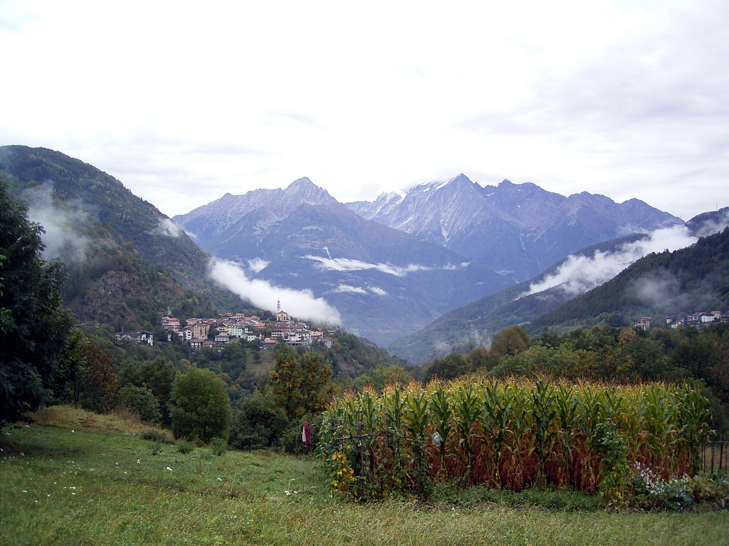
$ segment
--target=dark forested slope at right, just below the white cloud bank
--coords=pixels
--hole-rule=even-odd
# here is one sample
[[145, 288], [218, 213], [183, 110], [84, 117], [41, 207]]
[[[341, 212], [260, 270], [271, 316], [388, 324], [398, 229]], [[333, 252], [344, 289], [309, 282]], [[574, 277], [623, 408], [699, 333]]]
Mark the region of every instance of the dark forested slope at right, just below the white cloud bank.
[[527, 328], [579, 327], [604, 314], [678, 315], [729, 309], [729, 228], [674, 252], [636, 261], [604, 285], [535, 319]]

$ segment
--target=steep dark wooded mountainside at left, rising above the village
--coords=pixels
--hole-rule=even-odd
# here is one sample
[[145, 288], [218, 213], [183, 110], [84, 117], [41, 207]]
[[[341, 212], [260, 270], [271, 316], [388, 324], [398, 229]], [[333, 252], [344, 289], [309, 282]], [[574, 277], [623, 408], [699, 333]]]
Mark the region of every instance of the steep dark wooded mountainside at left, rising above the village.
[[1, 146], [0, 176], [44, 227], [44, 256], [66, 263], [64, 296], [79, 320], [151, 328], [168, 309], [211, 316], [252, 307], [208, 280], [208, 254], [167, 216], [92, 165]]

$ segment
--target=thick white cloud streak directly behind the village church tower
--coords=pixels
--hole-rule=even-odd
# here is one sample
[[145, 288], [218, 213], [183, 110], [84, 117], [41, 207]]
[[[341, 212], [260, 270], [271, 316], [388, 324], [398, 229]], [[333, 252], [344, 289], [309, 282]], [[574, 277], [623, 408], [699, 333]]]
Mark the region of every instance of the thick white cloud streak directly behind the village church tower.
[[324, 298], [314, 297], [311, 290], [280, 288], [265, 280], [249, 279], [238, 264], [216, 258], [211, 259], [208, 274], [219, 285], [262, 309], [273, 309], [280, 300], [281, 306], [294, 317], [331, 324], [342, 322], [338, 310]]

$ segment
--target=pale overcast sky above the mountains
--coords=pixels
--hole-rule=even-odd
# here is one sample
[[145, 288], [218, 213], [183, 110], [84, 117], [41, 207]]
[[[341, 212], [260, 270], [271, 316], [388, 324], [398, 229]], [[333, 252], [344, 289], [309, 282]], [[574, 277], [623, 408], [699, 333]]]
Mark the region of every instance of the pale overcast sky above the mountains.
[[465, 173], [729, 205], [729, 3], [0, 0], [0, 143], [163, 213]]

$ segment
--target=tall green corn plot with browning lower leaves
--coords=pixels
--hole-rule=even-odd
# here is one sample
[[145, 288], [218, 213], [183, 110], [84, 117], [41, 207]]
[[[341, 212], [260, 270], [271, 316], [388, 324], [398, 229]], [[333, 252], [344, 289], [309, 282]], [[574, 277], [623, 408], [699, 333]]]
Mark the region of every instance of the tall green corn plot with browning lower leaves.
[[634, 462], [663, 478], [695, 472], [708, 417], [688, 385], [432, 381], [340, 397], [317, 449], [332, 486], [359, 499], [426, 498], [439, 481], [594, 492]]

